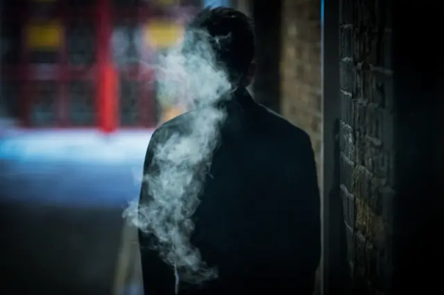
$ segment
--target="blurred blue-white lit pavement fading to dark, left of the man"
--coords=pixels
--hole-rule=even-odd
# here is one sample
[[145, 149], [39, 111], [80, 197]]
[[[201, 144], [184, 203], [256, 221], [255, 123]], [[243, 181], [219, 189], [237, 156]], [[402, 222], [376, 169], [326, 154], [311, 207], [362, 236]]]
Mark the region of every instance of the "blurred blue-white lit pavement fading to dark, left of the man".
[[1, 132], [0, 294], [142, 294], [122, 213], [151, 134]]

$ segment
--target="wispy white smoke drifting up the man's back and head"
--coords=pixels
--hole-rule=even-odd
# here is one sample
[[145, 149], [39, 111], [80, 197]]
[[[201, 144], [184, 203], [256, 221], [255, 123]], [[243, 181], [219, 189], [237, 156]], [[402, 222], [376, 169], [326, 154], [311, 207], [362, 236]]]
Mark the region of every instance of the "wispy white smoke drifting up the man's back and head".
[[[158, 172], [144, 175], [142, 180], [148, 182], [151, 202], [142, 206], [135, 202], [124, 213], [131, 224], [157, 238], [155, 249], [175, 269], [176, 292], [179, 280], [200, 284], [217, 277], [217, 269], [208, 267], [190, 242], [194, 231], [191, 216], [200, 203], [225, 120], [225, 112], [216, 102], [229, 98], [233, 91], [227, 73], [216, 62], [210, 40], [203, 31], [188, 32], [184, 43], [160, 57], [156, 66], [158, 95], [175, 98], [177, 105], [198, 111], [187, 115], [189, 132], [173, 134], [155, 147], [151, 165]], [[190, 50], [184, 53], [184, 48]]]

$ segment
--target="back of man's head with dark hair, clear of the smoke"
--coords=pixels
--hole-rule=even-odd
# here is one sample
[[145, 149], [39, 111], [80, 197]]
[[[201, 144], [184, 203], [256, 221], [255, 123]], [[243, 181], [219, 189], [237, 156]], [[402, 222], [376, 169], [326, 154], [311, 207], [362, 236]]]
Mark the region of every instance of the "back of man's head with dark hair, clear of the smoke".
[[225, 67], [231, 82], [248, 86], [255, 73], [255, 33], [250, 17], [232, 8], [205, 8], [187, 26], [187, 33], [196, 30], [209, 35], [216, 62]]

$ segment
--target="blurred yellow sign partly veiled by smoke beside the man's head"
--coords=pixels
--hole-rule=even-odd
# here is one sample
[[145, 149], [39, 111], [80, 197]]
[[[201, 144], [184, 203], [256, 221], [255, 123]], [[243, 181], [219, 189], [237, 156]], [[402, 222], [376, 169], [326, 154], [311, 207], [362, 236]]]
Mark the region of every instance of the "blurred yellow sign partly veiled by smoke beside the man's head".
[[183, 26], [174, 21], [153, 20], [146, 26], [146, 39], [155, 48], [167, 48], [180, 40], [183, 30]]

